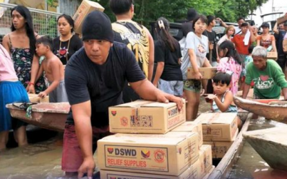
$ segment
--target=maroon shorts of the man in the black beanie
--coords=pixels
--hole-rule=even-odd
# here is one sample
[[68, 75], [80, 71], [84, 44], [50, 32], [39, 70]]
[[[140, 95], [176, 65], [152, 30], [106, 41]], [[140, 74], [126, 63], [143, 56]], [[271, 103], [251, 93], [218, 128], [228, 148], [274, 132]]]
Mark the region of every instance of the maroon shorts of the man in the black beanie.
[[[111, 135], [109, 126], [102, 128], [93, 127], [93, 154], [98, 147], [98, 140], [109, 135]], [[77, 172], [83, 160], [82, 151], [75, 134], [75, 125], [66, 124], [63, 139], [62, 170]]]

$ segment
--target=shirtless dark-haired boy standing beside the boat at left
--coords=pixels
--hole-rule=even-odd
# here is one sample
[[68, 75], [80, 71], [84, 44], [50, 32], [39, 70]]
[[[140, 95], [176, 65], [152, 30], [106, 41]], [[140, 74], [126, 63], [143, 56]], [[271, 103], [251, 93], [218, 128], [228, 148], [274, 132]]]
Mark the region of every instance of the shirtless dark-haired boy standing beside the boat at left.
[[48, 36], [42, 36], [36, 41], [36, 52], [38, 56], [45, 56], [41, 63], [37, 78], [45, 72], [49, 82], [49, 87], [39, 93], [39, 97], [44, 98], [49, 94], [50, 103], [68, 102], [64, 84], [64, 67], [62, 62], [51, 51], [53, 42]]

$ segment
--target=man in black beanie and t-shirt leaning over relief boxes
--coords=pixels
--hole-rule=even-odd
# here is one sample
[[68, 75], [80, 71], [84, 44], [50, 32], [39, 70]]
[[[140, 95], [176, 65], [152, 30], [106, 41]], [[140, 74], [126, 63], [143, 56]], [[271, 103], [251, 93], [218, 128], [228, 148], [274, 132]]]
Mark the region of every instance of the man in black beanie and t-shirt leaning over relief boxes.
[[147, 81], [127, 45], [113, 41], [111, 21], [106, 14], [93, 11], [82, 25], [84, 48], [68, 61], [65, 85], [71, 111], [64, 131], [62, 169], [67, 176], [92, 178], [93, 153], [97, 141], [109, 135], [108, 107], [122, 103], [125, 81], [149, 101], [174, 101], [178, 109], [183, 101], [165, 94]]

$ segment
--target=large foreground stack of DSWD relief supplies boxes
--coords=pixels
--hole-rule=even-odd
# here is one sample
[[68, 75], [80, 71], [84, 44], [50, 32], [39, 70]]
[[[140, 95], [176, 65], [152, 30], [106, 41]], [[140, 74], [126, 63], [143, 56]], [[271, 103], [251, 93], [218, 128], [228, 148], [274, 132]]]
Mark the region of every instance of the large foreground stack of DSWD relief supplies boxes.
[[101, 178], [202, 178], [210, 172], [211, 147], [199, 147], [201, 124], [191, 131], [178, 127], [185, 105], [178, 112], [176, 103], [134, 101], [110, 107], [109, 120], [118, 134], [98, 140]]

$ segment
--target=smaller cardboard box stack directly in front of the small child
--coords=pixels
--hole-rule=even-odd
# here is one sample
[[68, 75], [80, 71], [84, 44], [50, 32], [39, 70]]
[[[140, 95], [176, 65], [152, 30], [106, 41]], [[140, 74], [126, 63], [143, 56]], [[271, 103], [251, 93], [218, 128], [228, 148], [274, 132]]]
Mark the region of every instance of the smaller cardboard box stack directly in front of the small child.
[[239, 132], [236, 113], [206, 113], [195, 120], [203, 126], [203, 144], [212, 145], [212, 157], [223, 158]]

